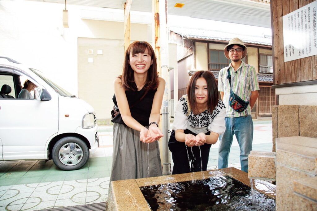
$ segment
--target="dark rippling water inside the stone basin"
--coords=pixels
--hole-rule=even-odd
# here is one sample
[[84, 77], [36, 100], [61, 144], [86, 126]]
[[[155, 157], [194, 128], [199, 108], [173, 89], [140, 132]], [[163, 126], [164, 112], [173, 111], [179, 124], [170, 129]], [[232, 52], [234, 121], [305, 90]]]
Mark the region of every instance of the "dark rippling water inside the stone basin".
[[229, 176], [140, 187], [152, 210], [275, 210], [275, 200]]

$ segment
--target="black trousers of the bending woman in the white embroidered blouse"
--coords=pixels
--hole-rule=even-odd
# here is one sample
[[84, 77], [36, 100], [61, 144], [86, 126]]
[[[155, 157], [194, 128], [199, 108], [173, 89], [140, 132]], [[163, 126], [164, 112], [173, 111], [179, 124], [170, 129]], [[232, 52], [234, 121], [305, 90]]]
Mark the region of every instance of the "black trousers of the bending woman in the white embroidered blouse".
[[[195, 136], [197, 135], [196, 133], [193, 133], [187, 129], [184, 130], [184, 133], [185, 134], [191, 133]], [[209, 134], [210, 132], [206, 133], [206, 135], [209, 135]], [[172, 159], [174, 163], [172, 174], [182, 174], [182, 173], [207, 170], [211, 144], [204, 144], [200, 146], [200, 150], [201, 150], [201, 159], [200, 159], [199, 147], [198, 146], [186, 147], [184, 142], [179, 142], [175, 139], [175, 131], [172, 130], [170, 140], [168, 141], [168, 147], [170, 151], [172, 152]], [[188, 160], [188, 157], [189, 157], [189, 160]], [[189, 164], [189, 161], [191, 161], [191, 166]]]

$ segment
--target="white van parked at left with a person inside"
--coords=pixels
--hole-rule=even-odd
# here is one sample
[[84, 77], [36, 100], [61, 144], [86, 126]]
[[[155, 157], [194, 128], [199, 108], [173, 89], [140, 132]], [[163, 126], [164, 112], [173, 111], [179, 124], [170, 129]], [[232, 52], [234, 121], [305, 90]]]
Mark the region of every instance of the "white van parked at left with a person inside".
[[[25, 80], [34, 99], [19, 99]], [[99, 146], [94, 109], [42, 72], [0, 57], [0, 160], [53, 159], [63, 170], [86, 164]]]

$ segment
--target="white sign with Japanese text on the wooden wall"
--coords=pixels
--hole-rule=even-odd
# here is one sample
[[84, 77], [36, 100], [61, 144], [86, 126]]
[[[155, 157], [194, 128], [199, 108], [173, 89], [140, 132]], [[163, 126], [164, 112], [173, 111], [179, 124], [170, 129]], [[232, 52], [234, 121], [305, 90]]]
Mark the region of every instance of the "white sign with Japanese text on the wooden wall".
[[317, 55], [317, 1], [283, 16], [284, 61]]

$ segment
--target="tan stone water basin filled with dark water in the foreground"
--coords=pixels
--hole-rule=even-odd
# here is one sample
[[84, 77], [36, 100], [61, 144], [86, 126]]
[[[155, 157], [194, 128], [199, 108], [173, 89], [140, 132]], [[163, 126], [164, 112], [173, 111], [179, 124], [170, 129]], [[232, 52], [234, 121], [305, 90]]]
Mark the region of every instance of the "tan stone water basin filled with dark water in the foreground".
[[275, 210], [275, 185], [236, 168], [114, 181], [108, 210]]

